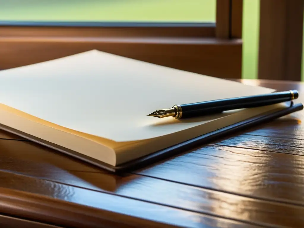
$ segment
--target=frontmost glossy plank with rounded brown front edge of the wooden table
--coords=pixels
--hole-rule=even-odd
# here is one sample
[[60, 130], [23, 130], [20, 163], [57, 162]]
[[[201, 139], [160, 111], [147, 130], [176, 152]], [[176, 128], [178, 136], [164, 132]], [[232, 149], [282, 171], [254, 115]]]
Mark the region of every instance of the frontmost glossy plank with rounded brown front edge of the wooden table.
[[[2, 187], [0, 212], [12, 213], [20, 217], [26, 216], [56, 225], [73, 227], [202, 227], [204, 225], [244, 227], [244, 223], [229, 219], [24, 175], [0, 171], [0, 178]], [[3, 203], [7, 201], [10, 204]], [[27, 204], [27, 207], [22, 205], [24, 203]], [[29, 210], [33, 206], [36, 209]], [[250, 224], [246, 226], [251, 227]]]

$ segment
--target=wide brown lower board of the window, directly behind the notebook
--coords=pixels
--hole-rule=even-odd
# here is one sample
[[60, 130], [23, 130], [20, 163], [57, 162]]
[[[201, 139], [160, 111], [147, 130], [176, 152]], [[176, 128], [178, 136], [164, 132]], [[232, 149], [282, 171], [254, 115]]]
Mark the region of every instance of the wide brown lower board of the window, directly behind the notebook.
[[217, 38], [2, 36], [0, 69], [92, 49], [219, 78], [241, 78], [242, 40]]

